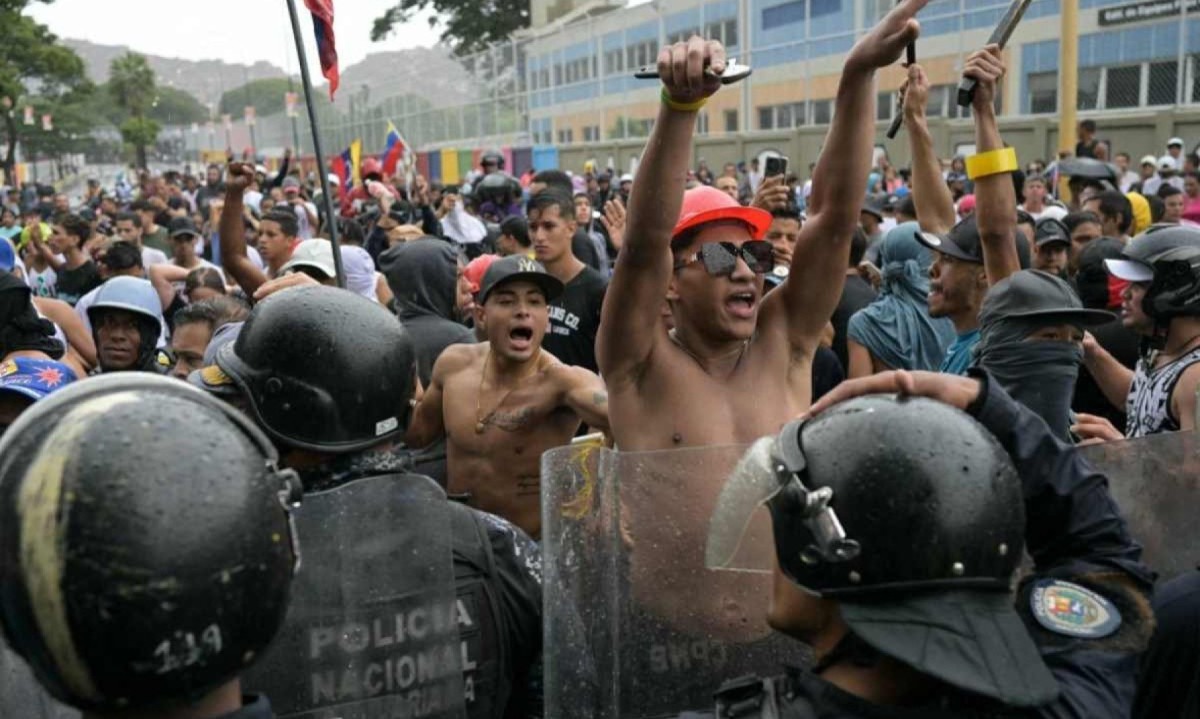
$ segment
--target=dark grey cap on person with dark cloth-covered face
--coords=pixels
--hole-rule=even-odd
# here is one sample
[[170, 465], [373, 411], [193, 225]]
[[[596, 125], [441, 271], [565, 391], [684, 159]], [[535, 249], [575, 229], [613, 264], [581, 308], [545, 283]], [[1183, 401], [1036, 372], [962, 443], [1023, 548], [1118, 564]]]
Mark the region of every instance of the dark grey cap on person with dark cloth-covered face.
[[1040, 270], [1021, 270], [991, 286], [979, 308], [979, 324], [1000, 319], [1046, 317], [1082, 326], [1112, 322], [1104, 310], [1088, 310], [1062, 278]]

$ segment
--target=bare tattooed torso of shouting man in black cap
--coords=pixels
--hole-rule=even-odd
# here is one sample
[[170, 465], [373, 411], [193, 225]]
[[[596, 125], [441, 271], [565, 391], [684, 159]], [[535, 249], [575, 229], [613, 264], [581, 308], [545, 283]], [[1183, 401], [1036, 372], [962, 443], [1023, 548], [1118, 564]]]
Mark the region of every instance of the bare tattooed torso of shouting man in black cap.
[[538, 538], [541, 453], [570, 443], [580, 427], [580, 418], [562, 405], [562, 365], [542, 353], [535, 372], [498, 387], [491, 370], [482, 377], [487, 344], [472, 352], [443, 389], [448, 491]]

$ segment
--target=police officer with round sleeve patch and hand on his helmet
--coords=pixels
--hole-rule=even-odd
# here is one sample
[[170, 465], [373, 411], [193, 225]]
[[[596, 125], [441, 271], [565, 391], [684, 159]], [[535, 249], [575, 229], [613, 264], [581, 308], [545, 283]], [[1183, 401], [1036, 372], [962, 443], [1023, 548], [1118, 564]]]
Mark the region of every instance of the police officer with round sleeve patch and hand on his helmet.
[[719, 717], [1128, 715], [1153, 573], [1105, 478], [985, 373], [845, 383], [728, 481], [751, 501], [719, 503], [709, 563], [766, 503], [768, 621], [816, 663], [726, 683]]

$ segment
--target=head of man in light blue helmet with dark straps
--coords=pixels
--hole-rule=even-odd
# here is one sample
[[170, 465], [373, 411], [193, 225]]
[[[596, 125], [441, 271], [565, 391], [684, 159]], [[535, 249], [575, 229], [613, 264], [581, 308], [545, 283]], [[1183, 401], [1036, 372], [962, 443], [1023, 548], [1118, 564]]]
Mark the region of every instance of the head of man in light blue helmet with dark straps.
[[172, 361], [158, 352], [162, 304], [154, 286], [138, 277], [113, 277], [88, 307], [96, 340], [97, 372], [166, 373]]

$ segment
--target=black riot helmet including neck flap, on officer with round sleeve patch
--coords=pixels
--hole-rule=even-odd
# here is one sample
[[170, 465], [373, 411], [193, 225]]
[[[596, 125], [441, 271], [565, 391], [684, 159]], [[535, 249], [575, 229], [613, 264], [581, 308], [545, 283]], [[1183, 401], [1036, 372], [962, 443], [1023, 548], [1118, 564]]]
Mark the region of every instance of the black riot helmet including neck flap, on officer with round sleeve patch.
[[1014, 609], [1021, 480], [979, 423], [926, 399], [859, 397], [784, 427], [772, 456], [779, 568], [838, 600], [854, 636], [1007, 705], [1054, 699]]

